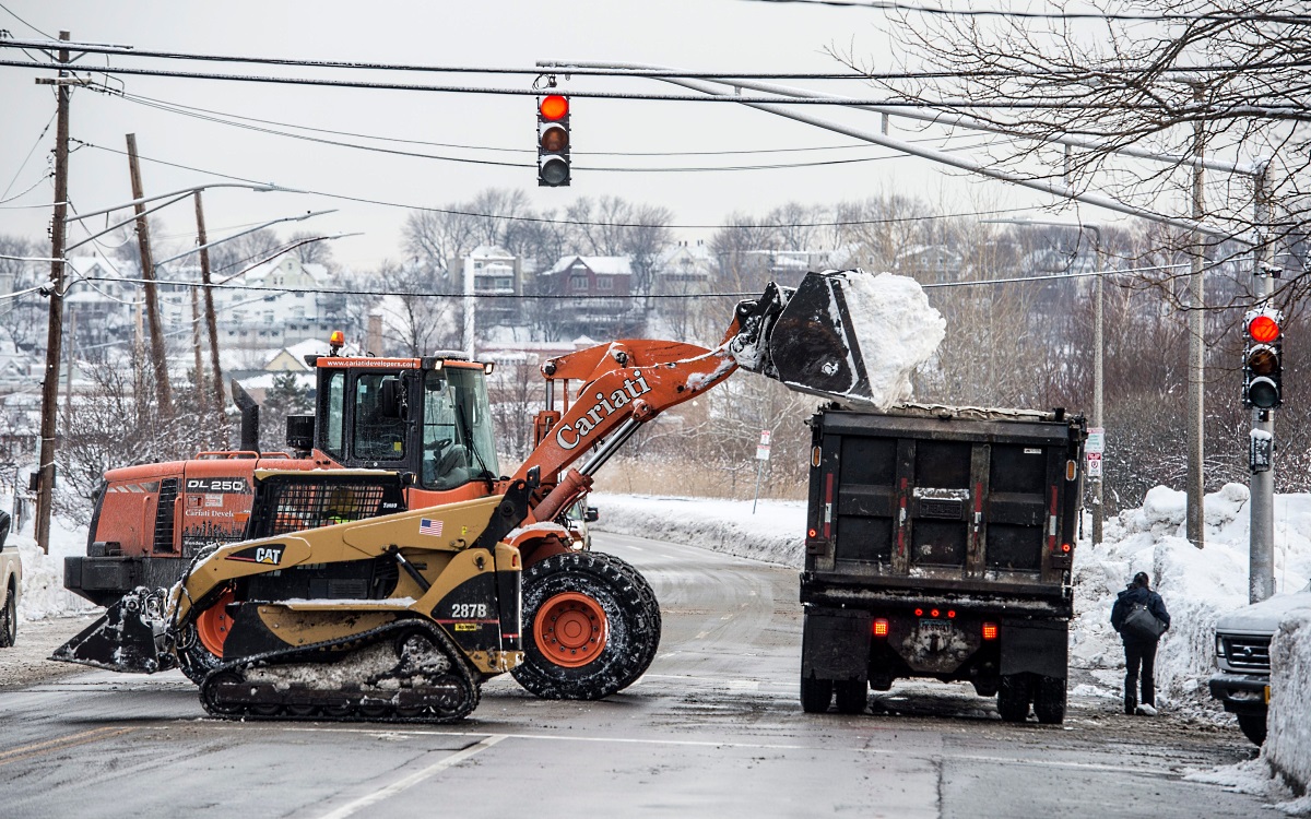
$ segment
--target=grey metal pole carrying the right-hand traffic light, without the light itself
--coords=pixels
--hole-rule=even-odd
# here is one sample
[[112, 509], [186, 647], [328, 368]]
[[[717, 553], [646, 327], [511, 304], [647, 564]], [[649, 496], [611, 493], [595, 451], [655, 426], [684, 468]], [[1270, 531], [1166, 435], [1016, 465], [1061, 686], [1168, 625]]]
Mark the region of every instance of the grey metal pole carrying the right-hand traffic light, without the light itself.
[[[1269, 190], [1266, 187], [1266, 166], [1261, 165], [1256, 177], [1255, 219], [1256, 229], [1264, 231], [1269, 220]], [[1273, 274], [1265, 266], [1266, 245], [1257, 241], [1252, 248], [1252, 261], [1256, 267], [1256, 287], [1260, 304], [1270, 299]], [[1274, 594], [1274, 410], [1252, 408], [1252, 451], [1257, 439], [1270, 442], [1270, 457], [1264, 469], [1257, 459], [1252, 459], [1251, 523], [1248, 541], [1248, 601], [1260, 603]]]

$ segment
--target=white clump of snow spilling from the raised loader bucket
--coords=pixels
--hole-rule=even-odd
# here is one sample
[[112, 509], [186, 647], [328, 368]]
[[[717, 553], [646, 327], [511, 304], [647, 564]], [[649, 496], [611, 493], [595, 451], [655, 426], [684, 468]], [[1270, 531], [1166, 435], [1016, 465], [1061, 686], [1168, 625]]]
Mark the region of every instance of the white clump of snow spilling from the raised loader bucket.
[[842, 294], [865, 360], [871, 401], [886, 409], [909, 400], [910, 376], [943, 343], [947, 320], [909, 276], [851, 271]]

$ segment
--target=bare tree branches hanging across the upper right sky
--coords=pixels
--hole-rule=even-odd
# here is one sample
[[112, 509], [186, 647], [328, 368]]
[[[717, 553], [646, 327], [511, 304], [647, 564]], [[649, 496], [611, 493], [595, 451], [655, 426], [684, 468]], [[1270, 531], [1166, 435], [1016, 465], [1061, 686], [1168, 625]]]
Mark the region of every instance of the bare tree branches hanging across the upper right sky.
[[[1044, 25], [905, 10], [893, 16], [899, 62], [932, 66], [933, 77], [872, 81], [941, 111], [940, 122], [961, 117], [999, 132], [987, 152], [994, 168], [1095, 187], [1165, 216], [1190, 214], [1198, 142], [1206, 159], [1266, 157], [1268, 224], [1253, 220], [1252, 176], [1218, 169], [1207, 172], [1206, 221], [1221, 238], [1259, 238], [1277, 253], [1298, 246], [1311, 204], [1306, 4], [1126, 0], [1116, 12], [1092, 30], [1059, 17]], [[839, 59], [869, 68], [850, 54]], [[1126, 159], [1126, 149], [1165, 161]], [[1285, 304], [1311, 286], [1301, 259], [1293, 267]]]

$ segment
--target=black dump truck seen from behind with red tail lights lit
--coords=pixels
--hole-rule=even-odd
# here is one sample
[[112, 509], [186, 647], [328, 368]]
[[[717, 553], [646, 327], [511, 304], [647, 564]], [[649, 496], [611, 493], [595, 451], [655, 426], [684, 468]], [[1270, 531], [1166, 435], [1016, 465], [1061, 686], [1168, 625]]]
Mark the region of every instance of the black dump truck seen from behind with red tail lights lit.
[[830, 404], [809, 425], [804, 710], [927, 677], [1062, 722], [1084, 419]]

